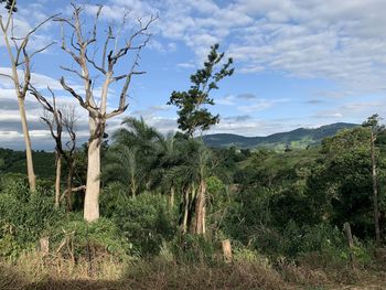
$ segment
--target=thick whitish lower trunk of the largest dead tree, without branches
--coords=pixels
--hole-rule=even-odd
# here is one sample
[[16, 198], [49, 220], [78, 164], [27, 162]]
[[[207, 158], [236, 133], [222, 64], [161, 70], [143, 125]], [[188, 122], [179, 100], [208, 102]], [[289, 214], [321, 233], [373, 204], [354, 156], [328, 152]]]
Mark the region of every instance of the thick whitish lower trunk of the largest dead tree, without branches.
[[100, 140], [94, 139], [88, 146], [87, 183], [84, 205], [84, 218], [87, 222], [94, 222], [99, 218], [99, 173]]

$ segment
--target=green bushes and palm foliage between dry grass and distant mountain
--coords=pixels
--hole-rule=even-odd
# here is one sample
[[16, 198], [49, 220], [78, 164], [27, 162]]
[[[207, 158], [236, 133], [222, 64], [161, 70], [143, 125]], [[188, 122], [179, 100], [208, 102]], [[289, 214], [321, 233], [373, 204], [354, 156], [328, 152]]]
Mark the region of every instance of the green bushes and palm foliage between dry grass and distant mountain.
[[[136, 257], [212, 267], [224, 260], [222, 240], [230, 239], [235, 262], [280, 269], [286, 279], [304, 276], [298, 264], [351, 267], [351, 255], [357, 267], [374, 267], [368, 128], [343, 130], [320, 147], [283, 153], [208, 149], [186, 135], [164, 137], [142, 119], [127, 119], [124, 126], [114, 143], [103, 147], [104, 217], [96, 223], [83, 222], [82, 194], [76, 194], [74, 213], [64, 213], [53, 207], [52, 180], [40, 180], [32, 194], [24, 175], [2, 174], [0, 256], [19, 260], [50, 237], [51, 253], [74, 265]], [[377, 144], [380, 214], [386, 204], [383, 133]], [[85, 180], [85, 153], [77, 151], [76, 184]], [[185, 190], [201, 182], [206, 234], [182, 235]], [[196, 195], [190, 198], [192, 210]], [[352, 249], [342, 233], [347, 221]], [[383, 225], [382, 215], [379, 221]]]

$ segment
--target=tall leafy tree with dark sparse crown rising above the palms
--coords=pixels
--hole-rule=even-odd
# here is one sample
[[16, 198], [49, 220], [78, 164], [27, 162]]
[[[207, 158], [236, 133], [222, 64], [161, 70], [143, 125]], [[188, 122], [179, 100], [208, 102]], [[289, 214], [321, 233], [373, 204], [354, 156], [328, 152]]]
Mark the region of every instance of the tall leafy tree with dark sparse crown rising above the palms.
[[[206, 108], [208, 105], [214, 105], [214, 100], [210, 97], [210, 93], [218, 88], [218, 82], [224, 77], [230, 76], [234, 73], [232, 68], [233, 60], [228, 61], [215, 72], [224, 57], [224, 53], [218, 53], [218, 44], [211, 47], [207, 55], [207, 61], [204, 67], [199, 69], [191, 76], [191, 87], [187, 92], [173, 92], [170, 97], [169, 105], [175, 105], [179, 110], [179, 128], [187, 136], [193, 138], [194, 133], [200, 130], [202, 132], [208, 130], [211, 126], [219, 120], [219, 116], [213, 116]], [[200, 157], [200, 155], [199, 155]], [[204, 164], [204, 163], [203, 163]], [[197, 193], [194, 197], [195, 222], [192, 232], [199, 235], [205, 234], [205, 206], [206, 206], [206, 183], [205, 172], [199, 167], [200, 181], [197, 183]], [[189, 194], [187, 194], [189, 195]], [[187, 196], [185, 194], [185, 196]], [[184, 228], [184, 226], [182, 227]]]

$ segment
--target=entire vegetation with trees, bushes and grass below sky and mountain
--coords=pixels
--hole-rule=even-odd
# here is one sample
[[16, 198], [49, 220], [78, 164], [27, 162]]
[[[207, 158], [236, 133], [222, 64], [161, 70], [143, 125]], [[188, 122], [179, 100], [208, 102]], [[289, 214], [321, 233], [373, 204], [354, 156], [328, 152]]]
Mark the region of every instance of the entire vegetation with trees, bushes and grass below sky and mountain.
[[[11, 68], [1, 76], [15, 92], [25, 142], [24, 151], [0, 149], [0, 289], [384, 289], [380, 116], [301, 148], [213, 146], [205, 133], [222, 116], [211, 110], [212, 94], [237, 73], [213, 44], [191, 86], [171, 92], [179, 130], [164, 135], [124, 115], [131, 80], [146, 77], [139, 55], [157, 15], [129, 41], [116, 41], [111, 28], [99, 41], [103, 7], [83, 26], [87, 17], [72, 2], [69, 18], [50, 17], [14, 37], [12, 19], [23, 8], [0, 4]], [[49, 22], [72, 35], [58, 44], [75, 64], [63, 67], [60, 85], [88, 116], [85, 143], [75, 109], [31, 77], [31, 60], [51, 44], [29, 41]], [[44, 110], [52, 152], [34, 150], [25, 99]], [[117, 116], [121, 125], [107, 133]]]

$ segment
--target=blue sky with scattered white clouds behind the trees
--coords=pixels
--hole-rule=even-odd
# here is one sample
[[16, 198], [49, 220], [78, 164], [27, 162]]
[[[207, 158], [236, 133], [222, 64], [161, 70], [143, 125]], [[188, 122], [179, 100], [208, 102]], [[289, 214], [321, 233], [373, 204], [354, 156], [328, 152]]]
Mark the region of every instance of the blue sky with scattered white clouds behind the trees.
[[[136, 20], [150, 15], [151, 39], [141, 53], [129, 88], [125, 115], [108, 121], [116, 130], [127, 116], [143, 117], [161, 132], [175, 130], [176, 111], [167, 103], [173, 90], [186, 90], [190, 75], [201, 67], [210, 46], [218, 43], [225, 57], [233, 57], [235, 74], [213, 92], [214, 114], [221, 121], [208, 133], [267, 136], [299, 127], [364, 121], [372, 114], [386, 116], [386, 11], [385, 0], [105, 0], [78, 1], [85, 30], [93, 23], [96, 4], [104, 4], [98, 30], [99, 47], [106, 28], [129, 36]], [[15, 34], [23, 35], [35, 23], [54, 13], [69, 17], [66, 0], [19, 0]], [[33, 17], [31, 14], [33, 13]], [[0, 14], [4, 15], [3, 8]], [[68, 30], [64, 30], [68, 35]], [[71, 35], [71, 34], [69, 34]], [[49, 23], [32, 40], [30, 50], [61, 42], [61, 25]], [[97, 51], [96, 55], [99, 51]], [[131, 64], [128, 56], [118, 68]], [[65, 76], [82, 94], [82, 82], [60, 66], [76, 67], [60, 44], [33, 60], [33, 84], [50, 86], [58, 104], [74, 104], [78, 142], [87, 140], [87, 114], [58, 83]], [[0, 73], [9, 72], [3, 40], [0, 40]], [[100, 92], [100, 77], [95, 94]], [[120, 87], [109, 92], [109, 109], [117, 106]], [[34, 149], [52, 149], [42, 107], [26, 97], [28, 119]], [[18, 104], [12, 86], [0, 77], [0, 147], [23, 149]]]

